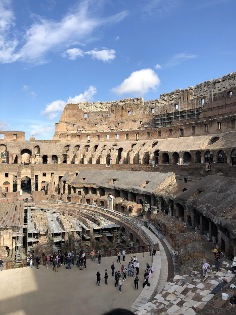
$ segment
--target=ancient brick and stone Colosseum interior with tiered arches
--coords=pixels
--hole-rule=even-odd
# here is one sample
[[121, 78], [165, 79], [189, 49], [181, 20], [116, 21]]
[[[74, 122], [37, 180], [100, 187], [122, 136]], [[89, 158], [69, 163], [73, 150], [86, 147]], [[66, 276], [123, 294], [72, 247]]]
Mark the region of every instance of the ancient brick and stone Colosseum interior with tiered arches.
[[235, 118], [233, 72], [156, 100], [67, 104], [52, 140], [0, 131], [3, 271], [31, 253], [155, 248], [135, 314], [233, 314], [221, 293], [236, 283]]

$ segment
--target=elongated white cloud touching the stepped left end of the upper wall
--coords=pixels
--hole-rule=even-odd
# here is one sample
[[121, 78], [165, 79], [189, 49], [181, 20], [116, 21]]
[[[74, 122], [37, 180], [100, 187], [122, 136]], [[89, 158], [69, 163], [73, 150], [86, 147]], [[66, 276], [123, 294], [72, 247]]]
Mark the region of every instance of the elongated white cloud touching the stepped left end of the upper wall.
[[[69, 97], [67, 103], [91, 101], [93, 100], [93, 95], [96, 93], [97, 89], [93, 85], [90, 85], [84, 93], [76, 95], [75, 97]], [[55, 100], [46, 106], [46, 108], [41, 112], [41, 115], [46, 116], [48, 119], [53, 119], [57, 117], [58, 112], [63, 111], [65, 105], [66, 102], [64, 100]]]

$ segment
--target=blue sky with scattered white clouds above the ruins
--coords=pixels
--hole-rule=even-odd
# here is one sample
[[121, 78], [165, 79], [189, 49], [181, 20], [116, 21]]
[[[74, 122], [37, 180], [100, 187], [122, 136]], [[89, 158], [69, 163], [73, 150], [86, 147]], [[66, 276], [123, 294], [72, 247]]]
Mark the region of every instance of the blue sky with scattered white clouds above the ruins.
[[52, 139], [69, 102], [151, 100], [235, 71], [234, 0], [0, 0], [0, 130]]

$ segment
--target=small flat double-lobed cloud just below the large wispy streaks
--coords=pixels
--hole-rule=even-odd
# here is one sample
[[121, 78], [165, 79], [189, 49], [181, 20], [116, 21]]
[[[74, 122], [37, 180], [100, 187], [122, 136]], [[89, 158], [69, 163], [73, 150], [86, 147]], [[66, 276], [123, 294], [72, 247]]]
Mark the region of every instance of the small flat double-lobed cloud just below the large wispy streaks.
[[104, 62], [115, 59], [115, 50], [113, 49], [103, 49], [97, 50], [93, 49], [90, 51], [83, 51], [79, 48], [67, 49], [62, 56], [68, 57], [70, 60], [76, 60], [77, 58], [81, 58], [84, 55], [91, 55], [92, 58], [97, 60], [102, 60]]

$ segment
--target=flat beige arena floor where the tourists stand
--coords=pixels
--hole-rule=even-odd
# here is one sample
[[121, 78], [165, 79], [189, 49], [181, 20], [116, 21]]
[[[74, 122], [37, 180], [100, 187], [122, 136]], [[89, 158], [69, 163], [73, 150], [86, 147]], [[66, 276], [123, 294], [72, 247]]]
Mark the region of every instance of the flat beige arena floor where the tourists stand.
[[[115, 257], [102, 258], [101, 265], [97, 260], [87, 261], [87, 268], [79, 270], [76, 265], [71, 270], [64, 266], [59, 272], [47, 270], [40, 264], [36, 267], [16, 268], [0, 272], [1, 315], [41, 315], [41, 314], [83, 314], [99, 315], [111, 308], [124, 307], [130, 309], [140, 291], [143, 289], [143, 274], [146, 262], [152, 264], [149, 253], [137, 254], [139, 267], [139, 288], [134, 290], [134, 278], [122, 281], [122, 293], [115, 288], [115, 279], [111, 275], [111, 264], [115, 261], [115, 270], [121, 264]], [[130, 255], [126, 255], [126, 266]], [[154, 266], [155, 268], [155, 266]], [[108, 270], [108, 285], [104, 283], [104, 272]], [[96, 286], [96, 273], [101, 273], [100, 286]], [[151, 280], [150, 280], [151, 282]]]

